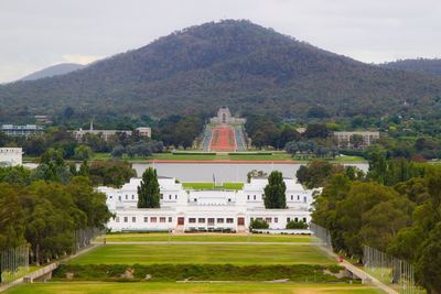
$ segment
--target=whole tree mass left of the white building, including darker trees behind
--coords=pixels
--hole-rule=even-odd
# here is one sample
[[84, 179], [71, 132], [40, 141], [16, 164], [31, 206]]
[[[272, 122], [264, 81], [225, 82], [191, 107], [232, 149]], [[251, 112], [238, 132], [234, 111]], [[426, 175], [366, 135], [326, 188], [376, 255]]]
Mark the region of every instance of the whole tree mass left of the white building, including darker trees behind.
[[86, 161], [77, 168], [60, 150], [42, 154], [34, 170], [0, 167], [0, 252], [30, 244], [35, 263], [76, 250], [75, 232], [103, 229], [111, 217], [97, 185], [120, 187], [136, 176], [121, 161]]

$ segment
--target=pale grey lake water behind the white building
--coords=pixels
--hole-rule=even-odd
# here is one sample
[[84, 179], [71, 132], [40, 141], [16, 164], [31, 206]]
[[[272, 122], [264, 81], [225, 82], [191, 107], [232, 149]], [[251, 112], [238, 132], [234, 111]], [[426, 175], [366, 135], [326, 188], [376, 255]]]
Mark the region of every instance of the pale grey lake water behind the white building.
[[[133, 163], [132, 166], [141, 176], [148, 166], [157, 168], [158, 175], [171, 176], [181, 182], [246, 182], [247, 173], [252, 170], [271, 173], [280, 171], [283, 176], [295, 177], [295, 173], [301, 164], [277, 164], [277, 163]], [[357, 166], [367, 172], [368, 164], [354, 163], [347, 164]]]

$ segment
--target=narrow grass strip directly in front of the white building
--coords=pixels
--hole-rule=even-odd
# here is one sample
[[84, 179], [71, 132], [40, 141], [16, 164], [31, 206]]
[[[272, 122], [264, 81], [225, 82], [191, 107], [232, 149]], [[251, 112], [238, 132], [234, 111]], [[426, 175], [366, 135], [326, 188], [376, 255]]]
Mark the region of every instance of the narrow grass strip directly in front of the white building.
[[[306, 235], [170, 235], [170, 233], [139, 233], [121, 232], [106, 235], [108, 242], [311, 242], [312, 237]], [[101, 238], [98, 239], [103, 240]]]

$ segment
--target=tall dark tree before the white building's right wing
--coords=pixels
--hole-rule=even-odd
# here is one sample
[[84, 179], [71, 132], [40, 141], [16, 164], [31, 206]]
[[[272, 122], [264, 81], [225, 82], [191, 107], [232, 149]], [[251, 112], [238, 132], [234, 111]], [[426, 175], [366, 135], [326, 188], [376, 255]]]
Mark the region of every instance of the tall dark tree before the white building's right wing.
[[287, 186], [281, 172], [271, 172], [268, 177], [268, 185], [263, 190], [265, 208], [287, 208], [287, 197], [284, 195]]

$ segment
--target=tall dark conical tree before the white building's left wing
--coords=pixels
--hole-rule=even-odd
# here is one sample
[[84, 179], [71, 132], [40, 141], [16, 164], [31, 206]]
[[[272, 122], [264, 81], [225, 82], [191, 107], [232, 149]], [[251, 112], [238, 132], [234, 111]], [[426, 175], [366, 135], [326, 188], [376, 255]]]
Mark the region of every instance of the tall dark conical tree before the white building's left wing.
[[159, 208], [160, 189], [157, 170], [149, 167], [142, 174], [141, 185], [138, 187], [138, 208]]

